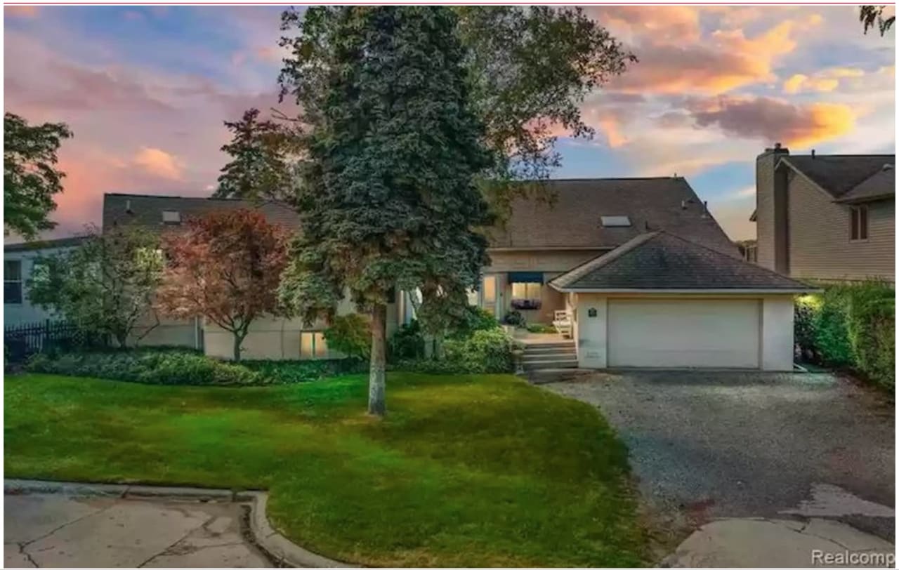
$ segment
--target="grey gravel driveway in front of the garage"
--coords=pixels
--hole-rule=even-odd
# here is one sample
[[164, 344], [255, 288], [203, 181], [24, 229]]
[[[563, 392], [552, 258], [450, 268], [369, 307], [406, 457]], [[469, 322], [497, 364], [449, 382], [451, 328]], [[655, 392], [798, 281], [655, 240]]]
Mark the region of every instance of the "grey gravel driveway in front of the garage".
[[894, 407], [871, 390], [830, 374], [686, 370], [543, 387], [601, 409], [656, 508], [833, 516], [893, 539]]

